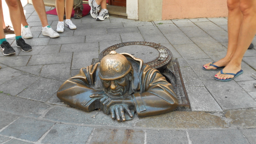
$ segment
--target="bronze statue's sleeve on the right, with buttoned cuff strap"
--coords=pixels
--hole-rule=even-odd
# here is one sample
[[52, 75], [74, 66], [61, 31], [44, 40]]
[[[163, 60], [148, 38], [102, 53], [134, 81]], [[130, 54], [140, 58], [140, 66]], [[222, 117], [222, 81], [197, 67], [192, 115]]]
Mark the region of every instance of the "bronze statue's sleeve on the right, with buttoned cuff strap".
[[173, 86], [168, 83], [158, 70], [144, 68], [141, 81], [141, 93], [132, 95], [138, 116], [154, 116], [173, 111], [178, 106], [178, 99]]

